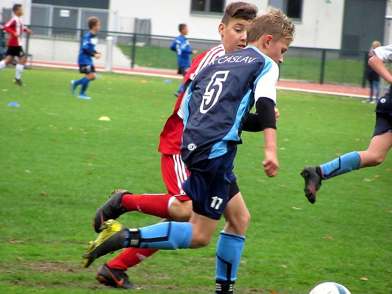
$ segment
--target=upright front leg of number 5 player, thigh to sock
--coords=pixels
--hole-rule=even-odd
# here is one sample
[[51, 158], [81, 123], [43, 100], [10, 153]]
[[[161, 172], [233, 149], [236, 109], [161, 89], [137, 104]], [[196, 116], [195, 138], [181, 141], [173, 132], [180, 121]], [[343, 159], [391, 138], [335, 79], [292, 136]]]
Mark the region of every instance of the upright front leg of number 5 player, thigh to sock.
[[250, 221], [249, 211], [240, 192], [230, 199], [223, 215], [226, 224], [220, 233], [216, 250], [216, 294], [233, 293], [237, 279]]

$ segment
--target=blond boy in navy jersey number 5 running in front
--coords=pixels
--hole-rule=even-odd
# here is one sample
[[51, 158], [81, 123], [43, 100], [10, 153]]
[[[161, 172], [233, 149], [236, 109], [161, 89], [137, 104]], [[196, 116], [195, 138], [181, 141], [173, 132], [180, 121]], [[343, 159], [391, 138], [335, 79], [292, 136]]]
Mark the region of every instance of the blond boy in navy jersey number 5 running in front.
[[[123, 228], [107, 221], [84, 255], [88, 267], [96, 258], [123, 247], [177, 249], [198, 248], [210, 243], [223, 214], [226, 219], [217, 245], [216, 294], [233, 294], [245, 245], [245, 231], [230, 220], [241, 215], [230, 205], [230, 189], [237, 145], [241, 144], [244, 117], [256, 105], [265, 138], [264, 171], [275, 176], [276, 82], [278, 63], [294, 39], [292, 20], [279, 9], [255, 18], [247, 33], [247, 45], [211, 61], [187, 88], [182, 158], [191, 175], [183, 184], [193, 200], [189, 222], [168, 221], [144, 228]], [[238, 189], [238, 188], [237, 188]]]

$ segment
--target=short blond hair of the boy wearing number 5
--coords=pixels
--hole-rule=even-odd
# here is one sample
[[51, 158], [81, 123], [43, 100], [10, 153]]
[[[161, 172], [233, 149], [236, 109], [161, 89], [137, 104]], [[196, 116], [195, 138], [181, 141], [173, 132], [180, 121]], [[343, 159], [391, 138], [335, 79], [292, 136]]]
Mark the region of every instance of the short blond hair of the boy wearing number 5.
[[256, 42], [265, 34], [271, 35], [274, 42], [281, 39], [293, 41], [294, 32], [293, 20], [284, 14], [282, 10], [269, 7], [267, 13], [256, 17], [251, 22], [247, 32], [246, 44]]

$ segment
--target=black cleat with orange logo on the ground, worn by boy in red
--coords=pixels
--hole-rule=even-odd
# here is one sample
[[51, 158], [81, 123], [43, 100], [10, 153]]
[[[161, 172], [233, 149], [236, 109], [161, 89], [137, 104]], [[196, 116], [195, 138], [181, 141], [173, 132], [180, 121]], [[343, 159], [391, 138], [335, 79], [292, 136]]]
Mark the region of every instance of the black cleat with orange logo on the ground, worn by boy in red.
[[123, 289], [133, 289], [133, 290], [143, 290], [142, 287], [133, 285], [125, 273], [125, 270], [118, 270], [108, 267], [104, 264], [98, 271], [97, 280], [99, 283], [106, 286], [123, 288]]

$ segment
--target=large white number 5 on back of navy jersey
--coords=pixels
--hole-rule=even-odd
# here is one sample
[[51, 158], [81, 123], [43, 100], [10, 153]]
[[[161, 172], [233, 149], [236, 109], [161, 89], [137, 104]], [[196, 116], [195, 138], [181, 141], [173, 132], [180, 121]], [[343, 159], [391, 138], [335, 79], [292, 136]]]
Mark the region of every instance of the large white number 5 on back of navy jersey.
[[[208, 110], [211, 109], [211, 107], [215, 105], [215, 103], [217, 103], [219, 96], [222, 92], [222, 82], [226, 80], [229, 72], [230, 71], [218, 71], [211, 76], [211, 80], [208, 83], [207, 88], [205, 89], [205, 92], [203, 94], [203, 100], [201, 101], [200, 105], [200, 113], [206, 113]], [[216, 89], [215, 86], [218, 86], [218, 89]], [[215, 90], [217, 91], [215, 92]], [[211, 102], [214, 97], [214, 94], [215, 98]]]

